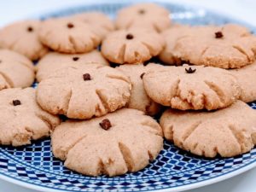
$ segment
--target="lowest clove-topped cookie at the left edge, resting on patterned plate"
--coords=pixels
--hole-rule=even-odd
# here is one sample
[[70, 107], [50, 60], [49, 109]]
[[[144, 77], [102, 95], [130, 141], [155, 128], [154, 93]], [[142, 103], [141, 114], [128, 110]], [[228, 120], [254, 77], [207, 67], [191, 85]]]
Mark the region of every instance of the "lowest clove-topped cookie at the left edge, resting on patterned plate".
[[32, 88], [0, 91], [0, 143], [21, 146], [48, 137], [60, 119], [38, 106]]

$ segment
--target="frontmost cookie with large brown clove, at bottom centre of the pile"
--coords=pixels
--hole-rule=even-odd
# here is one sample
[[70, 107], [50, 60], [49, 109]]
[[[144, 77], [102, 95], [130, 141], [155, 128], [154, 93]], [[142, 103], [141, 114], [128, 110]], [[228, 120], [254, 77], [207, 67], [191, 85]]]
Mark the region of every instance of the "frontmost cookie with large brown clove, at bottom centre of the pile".
[[101, 118], [67, 121], [51, 137], [56, 158], [89, 176], [137, 172], [163, 148], [162, 130], [151, 117], [123, 108]]

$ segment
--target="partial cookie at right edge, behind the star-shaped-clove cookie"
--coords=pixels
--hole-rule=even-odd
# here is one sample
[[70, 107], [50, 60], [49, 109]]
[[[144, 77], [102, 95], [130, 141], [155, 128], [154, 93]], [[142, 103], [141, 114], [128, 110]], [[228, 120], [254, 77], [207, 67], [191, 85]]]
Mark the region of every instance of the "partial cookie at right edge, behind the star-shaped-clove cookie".
[[230, 73], [236, 77], [241, 87], [239, 99], [243, 102], [256, 101], [256, 62], [240, 69], [232, 69]]

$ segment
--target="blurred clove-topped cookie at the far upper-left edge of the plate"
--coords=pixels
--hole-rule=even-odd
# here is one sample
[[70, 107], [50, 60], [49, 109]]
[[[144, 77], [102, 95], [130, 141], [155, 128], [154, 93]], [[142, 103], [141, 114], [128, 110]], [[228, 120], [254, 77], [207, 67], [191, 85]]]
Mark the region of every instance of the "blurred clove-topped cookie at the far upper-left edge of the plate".
[[12, 49], [25, 55], [30, 60], [38, 60], [48, 49], [38, 38], [39, 20], [24, 20], [15, 22], [0, 30], [0, 48]]

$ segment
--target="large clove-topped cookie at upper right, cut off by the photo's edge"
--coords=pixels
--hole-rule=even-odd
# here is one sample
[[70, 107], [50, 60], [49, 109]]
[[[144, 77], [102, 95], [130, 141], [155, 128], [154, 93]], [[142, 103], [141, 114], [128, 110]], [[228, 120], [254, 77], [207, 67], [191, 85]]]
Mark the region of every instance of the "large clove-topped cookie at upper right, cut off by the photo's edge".
[[256, 38], [243, 26], [200, 26], [178, 38], [173, 50], [180, 61], [240, 68], [255, 61]]

